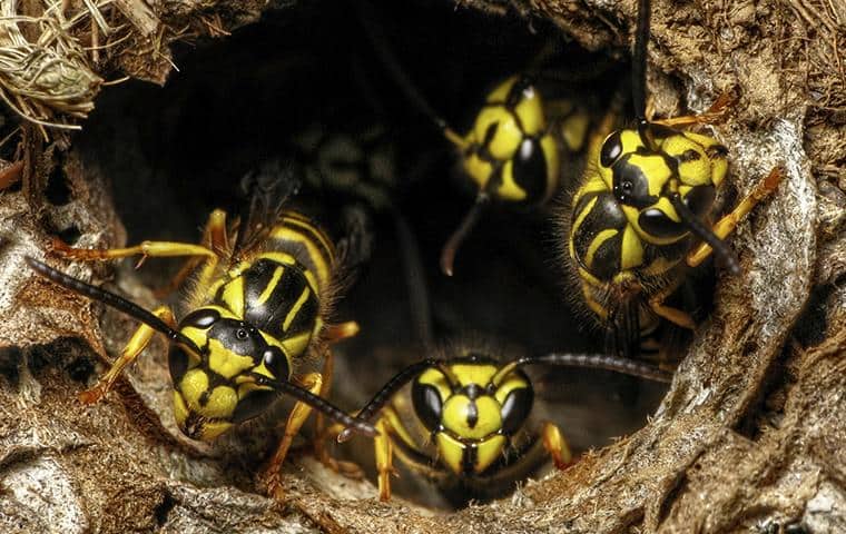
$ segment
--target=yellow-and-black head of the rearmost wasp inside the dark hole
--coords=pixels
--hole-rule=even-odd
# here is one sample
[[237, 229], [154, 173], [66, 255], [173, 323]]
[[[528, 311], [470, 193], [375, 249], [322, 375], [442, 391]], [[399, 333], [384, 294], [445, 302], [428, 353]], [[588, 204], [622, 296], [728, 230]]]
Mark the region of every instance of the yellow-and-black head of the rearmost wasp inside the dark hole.
[[464, 170], [480, 191], [527, 206], [554, 192], [559, 148], [527, 78], [509, 78], [489, 95], [464, 141]]

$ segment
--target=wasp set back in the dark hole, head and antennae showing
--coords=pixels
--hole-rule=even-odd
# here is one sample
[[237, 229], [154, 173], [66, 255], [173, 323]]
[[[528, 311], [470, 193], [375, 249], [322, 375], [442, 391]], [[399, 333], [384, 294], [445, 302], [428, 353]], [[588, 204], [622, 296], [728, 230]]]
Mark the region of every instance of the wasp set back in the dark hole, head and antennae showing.
[[590, 117], [565, 100], [547, 101], [539, 80], [530, 75], [511, 76], [484, 99], [466, 134], [456, 132], [429, 103], [391, 53], [387, 39], [368, 2], [356, 2], [382, 63], [411, 100], [461, 155], [463, 172], [475, 190], [475, 201], [444, 245], [440, 265], [453, 274], [455, 255], [478, 222], [485, 206], [500, 204], [535, 208], [547, 204], [561, 181], [563, 152], [580, 151]]

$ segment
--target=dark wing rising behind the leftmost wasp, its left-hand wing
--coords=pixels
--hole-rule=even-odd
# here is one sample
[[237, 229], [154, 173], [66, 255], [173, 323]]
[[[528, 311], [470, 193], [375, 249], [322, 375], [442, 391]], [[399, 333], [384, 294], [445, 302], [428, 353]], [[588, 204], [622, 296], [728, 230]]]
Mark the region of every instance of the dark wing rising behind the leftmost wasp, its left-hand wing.
[[256, 249], [273, 229], [287, 200], [297, 194], [302, 172], [293, 160], [273, 159], [247, 172], [240, 181], [246, 198], [240, 211], [233, 263]]

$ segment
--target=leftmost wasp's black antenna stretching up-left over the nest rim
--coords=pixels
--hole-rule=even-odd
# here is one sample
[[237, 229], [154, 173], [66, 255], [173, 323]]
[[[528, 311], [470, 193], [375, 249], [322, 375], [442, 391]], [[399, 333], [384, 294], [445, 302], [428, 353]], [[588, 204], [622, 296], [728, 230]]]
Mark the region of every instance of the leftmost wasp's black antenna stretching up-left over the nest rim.
[[173, 343], [185, 345], [190, 350], [194, 350], [195, 354], [200, 354], [199, 347], [197, 347], [197, 345], [195, 345], [194, 342], [191, 342], [189, 338], [187, 338], [185, 335], [180, 334], [179, 332], [170, 328], [170, 326], [168, 326], [167, 323], [156, 317], [150, 312], [138, 306], [137, 304], [131, 303], [127, 300], [126, 298], [120, 297], [118, 295], [115, 295], [111, 291], [107, 291], [106, 289], [101, 289], [97, 286], [92, 286], [80, 279], [73, 278], [72, 276], [66, 275], [65, 273], [58, 269], [53, 269], [49, 265], [42, 261], [39, 261], [30, 256], [24, 256], [23, 259], [24, 261], [27, 261], [27, 265], [29, 266], [30, 269], [43, 276], [48, 280], [55, 284], [58, 284], [62, 287], [66, 287], [70, 289], [71, 291], [78, 293], [80, 295], [85, 295], [86, 297], [91, 298], [94, 300], [98, 300], [107, 306], [110, 306], [117, 309], [118, 312], [121, 312], [135, 319], [138, 319], [145, 325], [149, 326], [150, 328], [166, 335]]

